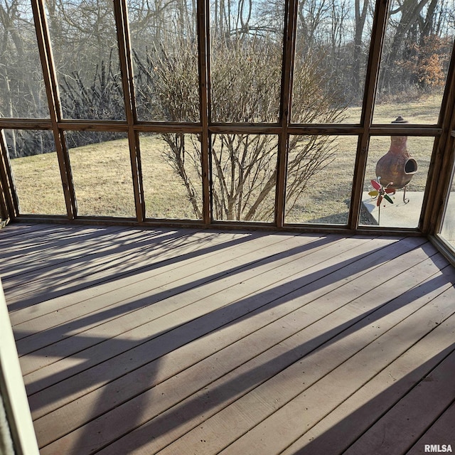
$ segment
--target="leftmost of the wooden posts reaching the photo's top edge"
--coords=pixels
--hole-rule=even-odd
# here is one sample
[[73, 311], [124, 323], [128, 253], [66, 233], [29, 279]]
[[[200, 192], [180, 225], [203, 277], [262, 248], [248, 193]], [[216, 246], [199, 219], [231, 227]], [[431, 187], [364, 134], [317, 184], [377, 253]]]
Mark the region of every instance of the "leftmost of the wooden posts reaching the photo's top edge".
[[55, 141], [55, 151], [58, 157], [58, 166], [63, 185], [63, 195], [65, 196], [66, 210], [68, 218], [74, 220], [77, 215], [73, 176], [70, 167], [70, 157], [66, 146], [63, 131], [59, 129], [58, 122], [62, 117], [60, 107], [60, 97], [58, 93], [57, 76], [55, 65], [53, 64], [52, 50], [50, 46], [50, 36], [48, 24], [45, 17], [43, 0], [31, 0], [33, 18], [35, 20], [36, 38], [38, 40], [38, 50], [43, 68], [45, 91], [48, 97], [48, 107], [50, 121]]

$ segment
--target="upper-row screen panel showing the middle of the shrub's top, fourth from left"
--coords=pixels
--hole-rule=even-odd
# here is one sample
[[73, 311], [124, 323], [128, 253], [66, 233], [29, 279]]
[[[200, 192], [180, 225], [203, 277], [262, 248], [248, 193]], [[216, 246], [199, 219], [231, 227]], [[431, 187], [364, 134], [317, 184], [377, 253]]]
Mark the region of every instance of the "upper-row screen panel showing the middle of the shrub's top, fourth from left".
[[210, 1], [213, 122], [278, 122], [284, 4]]

